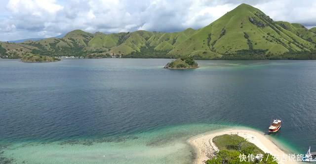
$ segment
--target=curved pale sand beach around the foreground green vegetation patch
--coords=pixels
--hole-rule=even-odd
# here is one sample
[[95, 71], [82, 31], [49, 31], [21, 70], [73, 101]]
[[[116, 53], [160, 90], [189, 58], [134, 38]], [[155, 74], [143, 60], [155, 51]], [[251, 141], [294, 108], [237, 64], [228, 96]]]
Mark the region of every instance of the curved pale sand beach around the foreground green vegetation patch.
[[[195, 164], [204, 164], [204, 162], [214, 156], [214, 153], [218, 151], [218, 148], [212, 142], [215, 136], [223, 134], [237, 134], [240, 137], [247, 139], [247, 141], [255, 144], [265, 153], [270, 153], [274, 156], [288, 155], [289, 153], [282, 148], [276, 146], [276, 144], [265, 136], [263, 132], [246, 129], [246, 128], [232, 128], [210, 131], [208, 133], [200, 134], [192, 137], [188, 140], [197, 153], [197, 159]], [[278, 164], [298, 164], [298, 162], [291, 162], [287, 159], [285, 162], [279, 161]]]

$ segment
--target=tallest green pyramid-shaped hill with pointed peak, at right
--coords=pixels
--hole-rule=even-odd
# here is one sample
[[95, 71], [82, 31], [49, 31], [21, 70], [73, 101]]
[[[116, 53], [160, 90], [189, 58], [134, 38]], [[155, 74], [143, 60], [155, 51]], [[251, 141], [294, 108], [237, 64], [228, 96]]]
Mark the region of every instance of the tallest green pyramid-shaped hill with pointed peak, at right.
[[199, 29], [176, 46], [170, 54], [193, 55], [198, 51], [212, 55], [280, 55], [315, 50], [306, 41], [276, 24], [262, 11], [241, 4], [210, 25]]

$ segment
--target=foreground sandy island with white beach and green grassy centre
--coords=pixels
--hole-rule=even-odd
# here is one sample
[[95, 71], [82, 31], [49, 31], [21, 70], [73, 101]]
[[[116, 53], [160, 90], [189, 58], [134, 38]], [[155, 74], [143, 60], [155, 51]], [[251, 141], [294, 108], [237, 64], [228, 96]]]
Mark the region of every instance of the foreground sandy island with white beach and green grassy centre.
[[[257, 160], [248, 163], [240, 162], [239, 155], [262, 155], [264, 162], [260, 164], [277, 164], [273, 158], [288, 155], [272, 138], [263, 132], [250, 128], [230, 128], [210, 131], [188, 140], [197, 153], [195, 164], [257, 164]], [[248, 159], [245, 159], [248, 161]], [[223, 162], [225, 161], [225, 162]], [[285, 164], [285, 163], [280, 163]], [[297, 164], [287, 161], [286, 164]]]

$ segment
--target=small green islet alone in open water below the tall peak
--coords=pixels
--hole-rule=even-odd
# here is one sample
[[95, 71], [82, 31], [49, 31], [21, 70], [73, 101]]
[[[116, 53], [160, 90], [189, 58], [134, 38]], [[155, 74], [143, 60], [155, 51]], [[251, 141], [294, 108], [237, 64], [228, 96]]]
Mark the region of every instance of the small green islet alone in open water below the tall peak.
[[198, 68], [198, 64], [194, 61], [193, 57], [185, 57], [173, 60], [166, 64], [163, 68], [167, 69], [193, 69]]

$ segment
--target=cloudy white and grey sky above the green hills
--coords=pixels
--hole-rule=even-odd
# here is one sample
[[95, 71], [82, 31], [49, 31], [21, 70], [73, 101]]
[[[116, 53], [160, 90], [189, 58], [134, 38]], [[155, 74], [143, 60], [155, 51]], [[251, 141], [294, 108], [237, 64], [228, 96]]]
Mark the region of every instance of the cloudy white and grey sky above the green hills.
[[316, 0], [0, 0], [0, 41], [94, 33], [175, 32], [210, 24], [240, 3], [274, 20], [316, 26]]

